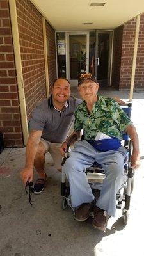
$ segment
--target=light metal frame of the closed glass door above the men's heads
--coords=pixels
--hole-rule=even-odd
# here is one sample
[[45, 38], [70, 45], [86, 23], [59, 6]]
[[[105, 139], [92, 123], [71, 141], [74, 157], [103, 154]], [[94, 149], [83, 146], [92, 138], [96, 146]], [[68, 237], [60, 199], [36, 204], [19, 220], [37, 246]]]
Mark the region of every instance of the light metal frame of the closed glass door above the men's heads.
[[70, 35], [86, 35], [86, 72], [89, 70], [89, 38], [90, 32], [89, 31], [68, 31], [65, 32], [66, 38], [66, 76], [67, 79], [72, 83], [72, 86], [77, 86], [77, 80], [70, 79]]

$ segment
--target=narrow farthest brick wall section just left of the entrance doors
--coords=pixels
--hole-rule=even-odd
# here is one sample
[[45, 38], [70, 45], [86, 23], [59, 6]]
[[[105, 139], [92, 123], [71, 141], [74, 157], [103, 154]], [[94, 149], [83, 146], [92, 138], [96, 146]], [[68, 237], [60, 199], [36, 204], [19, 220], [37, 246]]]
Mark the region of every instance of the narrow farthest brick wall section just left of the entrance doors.
[[46, 22], [47, 36], [47, 61], [49, 67], [49, 90], [56, 79], [56, 47], [55, 47], [55, 32], [54, 29]]

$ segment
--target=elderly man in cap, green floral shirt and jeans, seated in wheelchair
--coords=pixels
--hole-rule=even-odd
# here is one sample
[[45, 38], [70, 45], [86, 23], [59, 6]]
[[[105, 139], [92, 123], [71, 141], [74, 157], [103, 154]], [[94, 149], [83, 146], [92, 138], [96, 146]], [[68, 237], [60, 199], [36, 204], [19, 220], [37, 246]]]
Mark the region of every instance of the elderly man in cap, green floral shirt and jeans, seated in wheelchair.
[[[84, 130], [84, 140], [78, 141], [65, 161], [64, 172], [70, 184], [70, 201], [75, 209], [75, 219], [85, 221], [93, 211], [93, 227], [105, 231], [108, 216], [115, 216], [116, 193], [125, 182], [124, 166], [127, 150], [121, 145], [122, 131], [132, 141], [131, 167], [140, 166], [138, 135], [130, 118], [115, 100], [97, 95], [99, 84], [90, 73], [79, 76], [78, 90], [83, 99], [75, 112], [74, 133], [63, 143], [61, 154], [74, 134], [79, 138]], [[84, 170], [94, 162], [100, 164], [106, 175], [98, 200], [86, 178]]]

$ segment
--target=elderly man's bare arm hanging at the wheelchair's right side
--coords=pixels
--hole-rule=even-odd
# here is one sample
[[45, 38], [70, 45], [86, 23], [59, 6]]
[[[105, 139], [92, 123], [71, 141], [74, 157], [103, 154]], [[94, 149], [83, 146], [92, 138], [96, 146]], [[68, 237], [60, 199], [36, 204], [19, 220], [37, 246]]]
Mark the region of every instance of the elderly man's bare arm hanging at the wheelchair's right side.
[[137, 169], [140, 166], [140, 150], [138, 134], [134, 125], [129, 125], [125, 131], [129, 134], [132, 142], [132, 155], [131, 155], [131, 167]]

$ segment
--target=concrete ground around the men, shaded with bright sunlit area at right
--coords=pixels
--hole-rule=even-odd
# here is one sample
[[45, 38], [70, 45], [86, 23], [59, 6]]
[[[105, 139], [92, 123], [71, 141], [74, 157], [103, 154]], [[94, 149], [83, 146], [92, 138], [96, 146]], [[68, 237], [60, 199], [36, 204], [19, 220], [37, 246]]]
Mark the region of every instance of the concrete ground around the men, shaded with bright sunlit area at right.
[[[72, 93], [77, 95], [74, 88]], [[102, 95], [129, 98], [128, 92], [100, 90]], [[140, 138], [144, 158], [144, 92], [134, 93], [132, 120]], [[122, 210], [108, 221], [106, 232], [73, 220], [72, 210], [61, 209], [61, 173], [45, 164], [48, 175], [44, 192], [32, 195], [33, 205], [20, 181], [25, 148], [6, 148], [0, 154], [0, 255], [1, 256], [120, 256], [144, 255], [144, 159], [136, 170], [129, 222], [124, 225]], [[35, 173], [36, 179], [36, 173]]]

